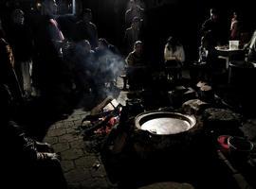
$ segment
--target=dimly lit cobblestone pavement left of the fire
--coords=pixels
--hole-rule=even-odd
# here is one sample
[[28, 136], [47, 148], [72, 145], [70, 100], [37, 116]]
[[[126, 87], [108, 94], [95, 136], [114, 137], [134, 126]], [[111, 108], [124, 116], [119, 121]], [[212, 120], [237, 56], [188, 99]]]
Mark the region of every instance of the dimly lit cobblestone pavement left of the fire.
[[[67, 119], [56, 122], [48, 130], [45, 142], [61, 153], [61, 164], [69, 188], [103, 189], [116, 188], [106, 177], [100, 154], [89, 153], [78, 127], [82, 118], [88, 114], [81, 109], [75, 110]], [[95, 165], [100, 164], [99, 167]]]

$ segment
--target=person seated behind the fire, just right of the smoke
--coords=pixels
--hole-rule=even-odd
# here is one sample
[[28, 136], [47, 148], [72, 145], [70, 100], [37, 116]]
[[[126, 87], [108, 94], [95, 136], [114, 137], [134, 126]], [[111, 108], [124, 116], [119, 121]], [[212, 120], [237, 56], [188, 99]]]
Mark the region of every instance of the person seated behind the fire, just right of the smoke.
[[143, 57], [143, 43], [137, 41], [134, 50], [126, 58], [126, 75], [130, 89], [141, 85], [145, 81], [145, 59]]

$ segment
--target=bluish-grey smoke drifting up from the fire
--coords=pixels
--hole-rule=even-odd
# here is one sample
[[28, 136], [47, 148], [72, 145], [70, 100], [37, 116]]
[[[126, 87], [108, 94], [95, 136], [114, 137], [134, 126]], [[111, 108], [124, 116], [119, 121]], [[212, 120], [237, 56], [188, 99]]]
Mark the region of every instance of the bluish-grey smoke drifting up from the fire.
[[116, 48], [110, 45], [90, 51], [76, 44], [68, 57], [72, 57], [75, 75], [79, 75], [80, 81], [93, 93], [102, 98], [117, 95], [115, 84], [123, 72], [125, 61]]

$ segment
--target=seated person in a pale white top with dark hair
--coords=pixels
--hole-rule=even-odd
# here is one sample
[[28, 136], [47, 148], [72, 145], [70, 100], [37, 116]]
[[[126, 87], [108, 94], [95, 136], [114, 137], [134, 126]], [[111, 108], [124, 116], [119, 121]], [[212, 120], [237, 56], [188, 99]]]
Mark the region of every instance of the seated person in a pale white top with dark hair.
[[[183, 45], [174, 37], [169, 37], [164, 48], [164, 60], [167, 77], [181, 77], [181, 66], [185, 61]], [[172, 75], [172, 76], [170, 76]]]

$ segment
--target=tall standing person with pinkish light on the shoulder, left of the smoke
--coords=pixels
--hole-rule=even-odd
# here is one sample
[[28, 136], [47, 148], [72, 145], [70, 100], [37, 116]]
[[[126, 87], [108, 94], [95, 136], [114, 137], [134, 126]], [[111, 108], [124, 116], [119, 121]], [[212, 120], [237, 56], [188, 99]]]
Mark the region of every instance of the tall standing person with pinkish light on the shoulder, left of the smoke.
[[[51, 107], [49, 111], [62, 111], [68, 107], [72, 82], [70, 70], [64, 61], [63, 47], [66, 41], [60, 30], [55, 14], [55, 0], [45, 0], [42, 3], [42, 15], [36, 30], [35, 46], [36, 61], [33, 76], [40, 95]], [[53, 108], [52, 105], [56, 105]]]

